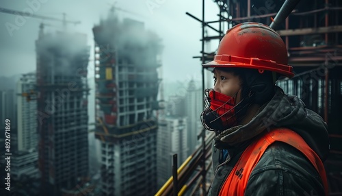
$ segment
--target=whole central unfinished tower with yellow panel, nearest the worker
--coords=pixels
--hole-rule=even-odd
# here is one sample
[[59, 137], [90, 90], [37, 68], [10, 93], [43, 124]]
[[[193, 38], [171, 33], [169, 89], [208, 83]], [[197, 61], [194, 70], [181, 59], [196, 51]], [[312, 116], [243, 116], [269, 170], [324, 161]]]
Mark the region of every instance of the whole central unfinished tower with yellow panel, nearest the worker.
[[144, 23], [119, 21], [114, 8], [93, 32], [101, 195], [153, 195], [160, 40]]

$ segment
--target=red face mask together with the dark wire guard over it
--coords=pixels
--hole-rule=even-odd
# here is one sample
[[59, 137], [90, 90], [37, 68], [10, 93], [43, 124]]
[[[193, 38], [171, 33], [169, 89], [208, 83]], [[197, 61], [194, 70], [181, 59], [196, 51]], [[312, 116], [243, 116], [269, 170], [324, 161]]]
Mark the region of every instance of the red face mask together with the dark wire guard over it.
[[206, 89], [205, 94], [209, 107], [201, 114], [203, 126], [207, 130], [216, 131], [223, 131], [226, 127], [235, 126], [237, 124], [237, 117], [234, 110], [234, 97], [215, 92], [213, 89]]

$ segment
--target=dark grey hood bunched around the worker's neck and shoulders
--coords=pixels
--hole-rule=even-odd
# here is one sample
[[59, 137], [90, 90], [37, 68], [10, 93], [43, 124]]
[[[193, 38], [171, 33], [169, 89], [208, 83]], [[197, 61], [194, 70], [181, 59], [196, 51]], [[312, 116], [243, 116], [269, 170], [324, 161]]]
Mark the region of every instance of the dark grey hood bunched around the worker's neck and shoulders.
[[329, 154], [328, 126], [319, 114], [305, 108], [297, 96], [285, 95], [276, 88], [274, 97], [246, 125], [233, 127], [216, 136], [227, 145], [237, 145], [272, 127], [287, 127], [302, 136], [322, 161]]

